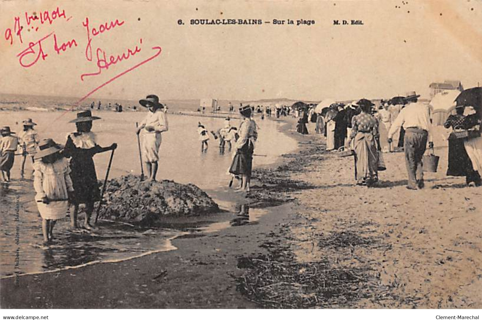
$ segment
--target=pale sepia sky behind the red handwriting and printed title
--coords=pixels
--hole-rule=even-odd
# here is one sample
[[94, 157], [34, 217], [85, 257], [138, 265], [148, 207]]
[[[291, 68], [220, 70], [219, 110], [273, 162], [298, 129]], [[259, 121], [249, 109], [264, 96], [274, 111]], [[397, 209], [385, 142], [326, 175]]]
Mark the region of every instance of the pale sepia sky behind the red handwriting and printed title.
[[[27, 24], [59, 8], [65, 16]], [[482, 1], [0, 1], [2, 93], [139, 99], [300, 100], [381, 98], [460, 80], [482, 83]], [[24, 27], [15, 35], [15, 17]], [[87, 60], [89, 19], [92, 61]], [[261, 19], [270, 24], [193, 26], [190, 19]], [[93, 35], [101, 24], [119, 25]], [[179, 25], [182, 19], [184, 25]], [[314, 20], [274, 25], [273, 19]], [[363, 25], [334, 25], [334, 20]], [[9, 28], [13, 36], [7, 37]], [[38, 28], [38, 29], [37, 29]], [[38, 41], [47, 54], [39, 54]], [[75, 40], [77, 46], [54, 48]], [[140, 42], [142, 39], [142, 43]], [[13, 42], [11, 44], [11, 41]], [[33, 42], [31, 54], [25, 54]], [[36, 44], [35, 44], [36, 43]], [[101, 69], [95, 52], [139, 52]], [[159, 49], [153, 49], [160, 47]], [[28, 52], [27, 52], [28, 53]], [[147, 59], [147, 62], [143, 63]], [[101, 62], [102, 64], [102, 62]], [[135, 67], [139, 65], [138, 67]], [[135, 68], [134, 68], [135, 67]], [[131, 70], [132, 69], [132, 70]], [[101, 86], [101, 87], [100, 87]], [[100, 88], [99, 88], [100, 87]], [[98, 88], [98, 89], [97, 89]], [[87, 98], [87, 99], [88, 99]]]

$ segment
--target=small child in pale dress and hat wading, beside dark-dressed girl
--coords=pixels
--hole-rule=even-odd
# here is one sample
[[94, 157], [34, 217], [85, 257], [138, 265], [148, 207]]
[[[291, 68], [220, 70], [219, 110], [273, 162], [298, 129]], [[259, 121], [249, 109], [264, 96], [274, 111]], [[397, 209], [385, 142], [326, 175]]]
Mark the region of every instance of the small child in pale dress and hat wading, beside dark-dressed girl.
[[57, 219], [65, 218], [68, 200], [74, 199], [74, 188], [70, 179], [70, 167], [65, 157], [60, 154], [62, 147], [52, 139], [40, 142], [36, 161], [33, 164], [33, 186], [37, 195], [37, 208], [42, 217], [43, 244], [52, 241], [54, 225]]

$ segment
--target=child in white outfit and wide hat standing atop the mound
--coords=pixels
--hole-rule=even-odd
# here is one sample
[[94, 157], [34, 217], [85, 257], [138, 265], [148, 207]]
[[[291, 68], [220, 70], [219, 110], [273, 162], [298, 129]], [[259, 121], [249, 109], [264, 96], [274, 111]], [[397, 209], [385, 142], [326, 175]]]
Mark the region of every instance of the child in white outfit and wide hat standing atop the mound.
[[166, 108], [159, 102], [159, 97], [149, 95], [139, 103], [149, 109], [146, 118], [137, 127], [136, 134], [144, 133], [142, 139], [142, 159], [146, 163], [149, 174], [148, 181], [156, 181], [159, 148], [161, 147], [161, 133], [169, 130], [166, 117]]

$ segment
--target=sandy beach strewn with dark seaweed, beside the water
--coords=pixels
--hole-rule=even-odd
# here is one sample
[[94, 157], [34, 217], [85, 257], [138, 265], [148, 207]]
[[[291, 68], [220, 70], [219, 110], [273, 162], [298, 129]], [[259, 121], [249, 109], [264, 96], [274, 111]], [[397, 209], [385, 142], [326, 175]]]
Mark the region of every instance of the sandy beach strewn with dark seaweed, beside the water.
[[403, 153], [386, 154], [387, 171], [367, 188], [354, 186], [351, 157], [286, 121], [298, 151], [257, 170], [249, 197], [236, 195], [268, 207], [258, 221], [179, 237], [178, 250], [1, 279], [1, 307], [482, 307], [482, 188], [445, 176], [442, 141], [425, 189], [405, 188]]

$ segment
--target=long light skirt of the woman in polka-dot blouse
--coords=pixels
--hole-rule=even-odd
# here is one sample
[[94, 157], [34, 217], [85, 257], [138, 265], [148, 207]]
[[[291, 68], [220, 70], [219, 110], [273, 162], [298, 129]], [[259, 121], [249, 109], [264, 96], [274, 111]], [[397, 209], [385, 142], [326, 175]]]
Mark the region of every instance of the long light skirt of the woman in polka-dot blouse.
[[378, 151], [372, 133], [358, 132], [355, 136], [356, 179], [374, 178], [378, 173]]

